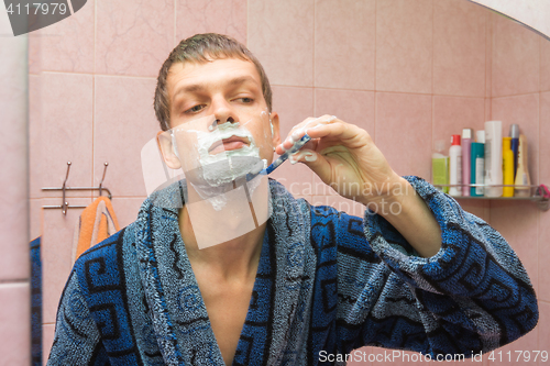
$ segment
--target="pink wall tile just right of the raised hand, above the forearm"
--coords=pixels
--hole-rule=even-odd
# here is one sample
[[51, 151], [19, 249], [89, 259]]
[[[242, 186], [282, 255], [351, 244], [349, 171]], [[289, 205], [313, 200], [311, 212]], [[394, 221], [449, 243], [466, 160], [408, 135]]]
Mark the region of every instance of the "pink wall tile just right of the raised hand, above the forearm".
[[432, 97], [376, 93], [376, 146], [400, 176], [430, 180]]

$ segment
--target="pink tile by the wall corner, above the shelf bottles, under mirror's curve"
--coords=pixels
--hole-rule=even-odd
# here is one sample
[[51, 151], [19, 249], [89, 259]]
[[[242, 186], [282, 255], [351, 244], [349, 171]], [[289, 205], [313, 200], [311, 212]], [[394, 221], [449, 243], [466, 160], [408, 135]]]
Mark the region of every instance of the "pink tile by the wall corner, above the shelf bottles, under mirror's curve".
[[496, 13], [493, 18], [493, 97], [539, 91], [539, 36]]

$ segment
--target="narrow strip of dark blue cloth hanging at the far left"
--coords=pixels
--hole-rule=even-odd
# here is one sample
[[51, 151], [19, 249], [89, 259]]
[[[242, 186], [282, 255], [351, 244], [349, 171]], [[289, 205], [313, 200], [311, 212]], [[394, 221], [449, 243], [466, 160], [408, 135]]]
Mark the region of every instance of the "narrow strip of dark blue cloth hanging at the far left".
[[42, 365], [42, 259], [41, 236], [31, 242], [31, 364]]

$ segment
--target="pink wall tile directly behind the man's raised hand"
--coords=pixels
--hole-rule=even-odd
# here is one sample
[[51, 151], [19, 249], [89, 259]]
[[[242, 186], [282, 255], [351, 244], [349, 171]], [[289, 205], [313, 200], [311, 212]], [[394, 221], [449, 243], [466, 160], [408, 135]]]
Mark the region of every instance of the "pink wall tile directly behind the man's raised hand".
[[[315, 89], [315, 115], [332, 114], [340, 120], [356, 124], [371, 137], [374, 135], [374, 99], [372, 91]], [[314, 195], [338, 195], [314, 174]]]

